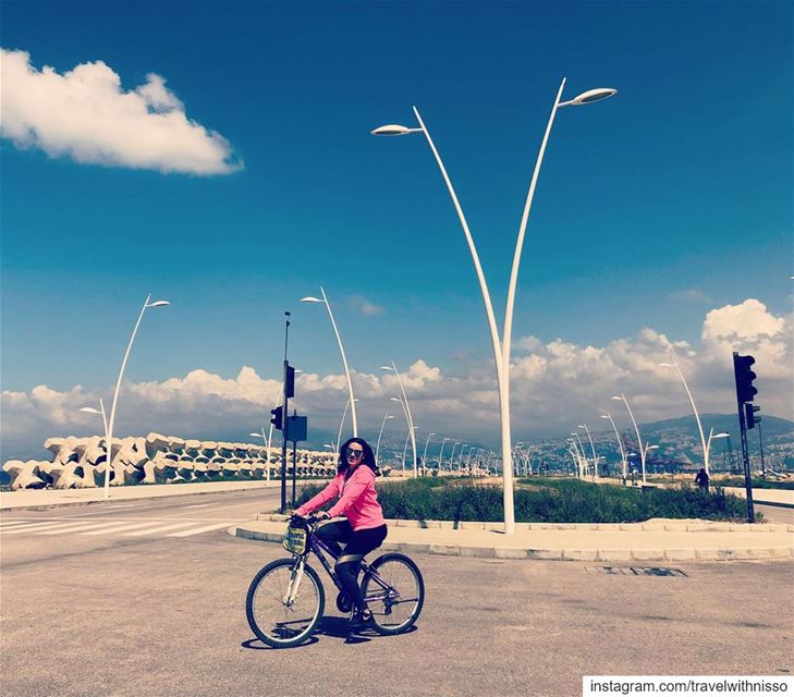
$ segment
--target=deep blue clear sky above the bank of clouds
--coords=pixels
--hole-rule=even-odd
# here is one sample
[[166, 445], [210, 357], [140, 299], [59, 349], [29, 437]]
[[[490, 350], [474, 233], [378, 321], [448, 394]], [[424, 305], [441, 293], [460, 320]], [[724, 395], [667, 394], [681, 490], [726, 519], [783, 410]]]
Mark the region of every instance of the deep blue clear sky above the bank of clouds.
[[[244, 167], [224, 175], [2, 157], [2, 382], [103, 388], [148, 292], [127, 378], [293, 363], [490, 358], [471, 257], [426, 142], [375, 138], [417, 105], [457, 188], [497, 315], [560, 80], [514, 337], [695, 343], [712, 308], [791, 311], [792, 5], [785, 2], [3, 3], [2, 47], [123, 89], [167, 81]], [[383, 309], [365, 315], [365, 298]], [[352, 299], [353, 298], [353, 299]]]

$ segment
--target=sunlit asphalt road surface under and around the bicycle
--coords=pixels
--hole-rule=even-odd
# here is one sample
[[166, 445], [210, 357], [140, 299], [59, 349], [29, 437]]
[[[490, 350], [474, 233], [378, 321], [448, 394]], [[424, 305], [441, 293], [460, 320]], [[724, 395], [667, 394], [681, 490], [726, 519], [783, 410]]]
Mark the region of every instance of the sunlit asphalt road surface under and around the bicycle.
[[[414, 632], [345, 644], [329, 592], [320, 635], [266, 648], [247, 626], [245, 592], [283, 550], [223, 527], [171, 535], [245, 519], [276, 496], [3, 516], [3, 694], [575, 697], [584, 674], [794, 671], [791, 560], [681, 564], [685, 575], [651, 576], [627, 564], [607, 573], [417, 554], [427, 601]], [[10, 534], [34, 524], [7, 526], [20, 517], [56, 527]], [[87, 535], [97, 521], [106, 533]], [[132, 535], [168, 525], [180, 527]]]

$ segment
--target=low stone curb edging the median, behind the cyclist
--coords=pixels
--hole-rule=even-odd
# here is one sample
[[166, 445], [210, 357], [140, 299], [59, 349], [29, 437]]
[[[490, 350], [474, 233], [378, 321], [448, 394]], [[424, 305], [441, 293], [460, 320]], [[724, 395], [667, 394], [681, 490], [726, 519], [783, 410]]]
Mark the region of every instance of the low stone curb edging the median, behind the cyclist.
[[[262, 542], [281, 545], [283, 535], [252, 530], [239, 525], [231, 526], [227, 533]], [[791, 559], [794, 549], [790, 547], [768, 547], [754, 549], [535, 549], [524, 547], [474, 547], [444, 542], [383, 542], [380, 549], [386, 552], [400, 551], [407, 554], [432, 554], [439, 557], [461, 557], [467, 559], [520, 559], [563, 562], [696, 562], [696, 561], [740, 561], [758, 559]]]

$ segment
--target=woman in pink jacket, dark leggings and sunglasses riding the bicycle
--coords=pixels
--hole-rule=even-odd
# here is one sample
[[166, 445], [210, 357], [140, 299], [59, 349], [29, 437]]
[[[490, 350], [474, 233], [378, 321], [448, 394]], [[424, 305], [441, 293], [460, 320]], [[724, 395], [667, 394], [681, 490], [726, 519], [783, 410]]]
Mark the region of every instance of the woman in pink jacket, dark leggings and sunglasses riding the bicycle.
[[[375, 478], [380, 473], [369, 444], [362, 438], [351, 438], [339, 451], [337, 476], [316, 497], [295, 510], [297, 515], [308, 515], [339, 497], [328, 512], [316, 517], [346, 519], [325, 523], [317, 528], [317, 536], [337, 557], [334, 571], [356, 612], [351, 620], [352, 628], [362, 628], [372, 619], [358, 587], [358, 570], [362, 559], [381, 546], [387, 535], [383, 511], [378, 503]], [[344, 550], [340, 546], [344, 543]]]

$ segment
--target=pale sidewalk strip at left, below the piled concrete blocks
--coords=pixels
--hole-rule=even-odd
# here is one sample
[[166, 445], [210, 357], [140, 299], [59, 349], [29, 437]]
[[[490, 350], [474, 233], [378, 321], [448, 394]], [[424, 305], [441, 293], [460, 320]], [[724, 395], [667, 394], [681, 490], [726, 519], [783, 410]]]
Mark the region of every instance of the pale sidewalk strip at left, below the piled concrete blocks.
[[[302, 480], [302, 484], [305, 480]], [[105, 498], [105, 489], [21, 489], [0, 492], [0, 511], [24, 509], [58, 509], [105, 501], [147, 501], [162, 497], [183, 497], [224, 491], [276, 488], [280, 479], [257, 479], [252, 481], [195, 481], [190, 484], [152, 484], [137, 487], [111, 487], [110, 498]]]

